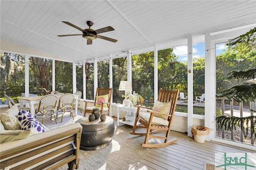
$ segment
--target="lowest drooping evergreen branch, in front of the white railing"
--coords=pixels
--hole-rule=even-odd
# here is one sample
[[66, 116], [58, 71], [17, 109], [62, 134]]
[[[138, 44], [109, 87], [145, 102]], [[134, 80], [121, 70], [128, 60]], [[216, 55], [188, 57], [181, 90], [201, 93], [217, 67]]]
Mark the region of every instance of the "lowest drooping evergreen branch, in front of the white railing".
[[[248, 117], [226, 117], [220, 116], [216, 117], [216, 123], [219, 129], [223, 127], [225, 130], [236, 130], [236, 125], [240, 126], [244, 137], [248, 136], [248, 132], [250, 130], [250, 138], [252, 138], [254, 134], [254, 138], [256, 140], [256, 116], [248, 116]], [[246, 128], [244, 127], [246, 125]]]

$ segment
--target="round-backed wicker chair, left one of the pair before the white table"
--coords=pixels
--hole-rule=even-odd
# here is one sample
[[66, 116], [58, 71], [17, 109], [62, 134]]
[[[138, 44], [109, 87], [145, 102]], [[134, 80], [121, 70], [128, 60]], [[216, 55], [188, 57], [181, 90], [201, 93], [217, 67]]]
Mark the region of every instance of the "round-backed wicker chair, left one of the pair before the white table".
[[38, 113], [41, 113], [43, 116], [42, 124], [44, 124], [44, 117], [50, 113], [51, 120], [52, 115], [54, 115], [55, 122], [57, 123], [55, 116], [55, 109], [58, 103], [58, 97], [56, 95], [45, 95], [39, 100], [38, 110], [35, 113], [35, 117]]

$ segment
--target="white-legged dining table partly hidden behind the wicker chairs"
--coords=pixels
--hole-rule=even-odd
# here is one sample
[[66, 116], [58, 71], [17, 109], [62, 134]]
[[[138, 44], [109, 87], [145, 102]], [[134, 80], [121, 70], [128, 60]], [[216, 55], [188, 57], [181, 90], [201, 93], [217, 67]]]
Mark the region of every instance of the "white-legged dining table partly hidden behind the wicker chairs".
[[[79, 95], [74, 95], [74, 96], [75, 96], [75, 115], [74, 116], [76, 116], [77, 115], [77, 105], [78, 105]], [[38, 109], [38, 108], [34, 108], [34, 104], [39, 104], [39, 100], [42, 97], [43, 96], [20, 97], [19, 98], [20, 105], [25, 105], [26, 103], [28, 103], [30, 105], [30, 113], [32, 115], [35, 115], [36, 109]]]

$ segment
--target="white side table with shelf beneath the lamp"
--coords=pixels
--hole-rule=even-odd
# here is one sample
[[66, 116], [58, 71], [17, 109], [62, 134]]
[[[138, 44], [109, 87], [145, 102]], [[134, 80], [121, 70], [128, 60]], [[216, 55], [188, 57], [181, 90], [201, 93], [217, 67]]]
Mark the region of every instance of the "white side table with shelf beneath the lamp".
[[[117, 126], [119, 126], [119, 123], [124, 123], [126, 125], [134, 125], [134, 120], [135, 120], [135, 116], [136, 116], [136, 112], [138, 107], [130, 107], [130, 106], [124, 106], [124, 105], [117, 105]], [[126, 120], [122, 121], [119, 120], [119, 111], [126, 111]]]

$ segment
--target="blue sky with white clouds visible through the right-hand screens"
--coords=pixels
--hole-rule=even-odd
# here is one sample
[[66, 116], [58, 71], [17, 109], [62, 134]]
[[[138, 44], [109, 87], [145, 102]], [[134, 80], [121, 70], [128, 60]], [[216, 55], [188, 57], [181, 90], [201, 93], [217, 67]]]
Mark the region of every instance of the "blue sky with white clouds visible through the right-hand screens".
[[[216, 45], [216, 55], [219, 55], [225, 49], [225, 43]], [[179, 56], [180, 62], [188, 61], [188, 48], [187, 45], [175, 47], [173, 52]], [[200, 58], [205, 56], [204, 42], [193, 44], [193, 57]]]

